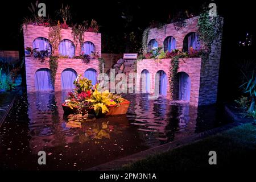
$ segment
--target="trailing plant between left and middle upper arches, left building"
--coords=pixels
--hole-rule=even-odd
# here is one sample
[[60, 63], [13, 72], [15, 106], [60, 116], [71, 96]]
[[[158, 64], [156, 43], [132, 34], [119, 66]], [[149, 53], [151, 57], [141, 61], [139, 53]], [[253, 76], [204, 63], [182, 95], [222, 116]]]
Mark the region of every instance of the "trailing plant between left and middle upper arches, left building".
[[61, 28], [60, 22], [58, 21], [56, 26], [50, 27], [49, 30], [49, 42], [52, 45], [52, 55], [55, 55], [61, 41]]

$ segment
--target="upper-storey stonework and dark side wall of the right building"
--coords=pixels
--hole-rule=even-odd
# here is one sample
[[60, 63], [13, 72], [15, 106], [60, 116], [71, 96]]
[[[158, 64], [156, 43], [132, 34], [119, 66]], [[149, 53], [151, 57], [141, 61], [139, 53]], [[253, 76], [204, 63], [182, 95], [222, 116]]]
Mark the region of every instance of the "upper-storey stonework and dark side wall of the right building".
[[[185, 26], [177, 27], [175, 24], [166, 24], [162, 28], [152, 28], [148, 33], [148, 41], [155, 39], [158, 46], [163, 46], [164, 39], [168, 36], [173, 36], [176, 40], [176, 49], [182, 51], [183, 40], [189, 32], [198, 32], [197, 20], [198, 16], [185, 20]], [[223, 19], [222, 19], [223, 23]], [[217, 101], [217, 88], [218, 88], [218, 72], [220, 66], [221, 56], [221, 40], [222, 31], [213, 42], [212, 50], [209, 60], [205, 60], [204, 64], [200, 67], [200, 91], [199, 91], [199, 105], [214, 104]], [[145, 68], [146, 69], [146, 68]], [[191, 69], [191, 68], [189, 68]], [[198, 68], [195, 68], [198, 69]], [[168, 73], [168, 72], [166, 72]], [[189, 75], [189, 73], [188, 73]], [[190, 75], [189, 75], [190, 76]], [[193, 82], [191, 83], [193, 84]]]

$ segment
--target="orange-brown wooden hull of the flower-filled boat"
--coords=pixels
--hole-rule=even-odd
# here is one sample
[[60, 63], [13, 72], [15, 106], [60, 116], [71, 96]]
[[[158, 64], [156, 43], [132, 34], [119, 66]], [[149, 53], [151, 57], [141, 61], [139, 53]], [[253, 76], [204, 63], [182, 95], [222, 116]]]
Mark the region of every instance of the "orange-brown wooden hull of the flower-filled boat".
[[[119, 104], [119, 106], [115, 105], [109, 105], [107, 106], [109, 109], [109, 112], [106, 113], [105, 115], [121, 115], [121, 114], [126, 114], [128, 107], [130, 105], [130, 101], [123, 101]], [[62, 105], [64, 113], [66, 114], [74, 114], [77, 110], [77, 107], [73, 107], [73, 109], [71, 109], [71, 107], [65, 105], [65, 103]], [[88, 111], [89, 114], [95, 114], [93, 108], [89, 108], [86, 109]], [[102, 114], [101, 114], [102, 115]], [[104, 114], [103, 114], [104, 115]]]

